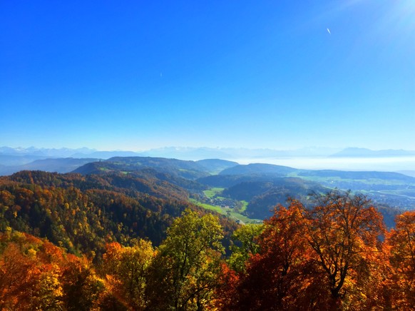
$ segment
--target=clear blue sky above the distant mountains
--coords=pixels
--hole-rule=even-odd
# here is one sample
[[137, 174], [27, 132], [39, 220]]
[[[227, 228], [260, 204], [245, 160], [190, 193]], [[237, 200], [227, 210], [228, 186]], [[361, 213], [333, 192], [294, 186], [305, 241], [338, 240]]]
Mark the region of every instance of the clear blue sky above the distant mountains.
[[1, 1], [0, 146], [415, 150], [415, 1]]

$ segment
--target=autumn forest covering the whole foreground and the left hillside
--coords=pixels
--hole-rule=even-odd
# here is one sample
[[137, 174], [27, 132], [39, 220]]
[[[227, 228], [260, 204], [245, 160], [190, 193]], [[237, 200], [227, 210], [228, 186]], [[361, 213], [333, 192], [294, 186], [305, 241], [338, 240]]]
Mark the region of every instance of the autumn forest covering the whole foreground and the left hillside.
[[130, 175], [0, 178], [0, 310], [410, 310], [415, 212], [288, 200], [237, 225]]

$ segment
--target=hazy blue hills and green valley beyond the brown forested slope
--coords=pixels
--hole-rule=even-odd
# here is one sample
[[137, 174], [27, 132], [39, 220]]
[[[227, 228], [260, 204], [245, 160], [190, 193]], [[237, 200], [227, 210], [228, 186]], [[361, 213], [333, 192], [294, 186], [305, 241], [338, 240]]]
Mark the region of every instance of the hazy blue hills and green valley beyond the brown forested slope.
[[170, 191], [173, 197], [180, 193], [188, 203], [226, 215], [238, 223], [257, 223], [268, 218], [272, 208], [285, 205], [288, 198], [307, 202], [311, 193], [327, 193], [332, 189], [367, 195], [383, 210], [388, 225], [393, 224], [395, 211], [415, 209], [415, 178], [394, 172], [306, 170], [265, 163], [240, 165], [220, 159], [148, 156], [116, 156], [106, 160], [48, 158], [0, 167], [3, 175], [17, 168], [158, 180], [160, 189], [164, 183], [174, 185], [175, 190]]

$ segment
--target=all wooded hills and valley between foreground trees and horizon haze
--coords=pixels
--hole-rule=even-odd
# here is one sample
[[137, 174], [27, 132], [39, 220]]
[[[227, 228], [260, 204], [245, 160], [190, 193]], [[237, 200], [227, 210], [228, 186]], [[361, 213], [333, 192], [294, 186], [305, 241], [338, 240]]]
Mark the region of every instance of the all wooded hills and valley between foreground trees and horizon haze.
[[[372, 198], [389, 227], [399, 209], [415, 206], [415, 178], [398, 173], [149, 157], [116, 157], [76, 171], [22, 171], [0, 178], [1, 228], [60, 241], [73, 253], [99, 253], [105, 232], [120, 242], [148, 237], [158, 245], [173, 218], [187, 207], [197, 208], [193, 203], [249, 223], [270, 217], [287, 198], [306, 203], [309, 193], [351, 189]], [[86, 240], [90, 232], [93, 238]]]

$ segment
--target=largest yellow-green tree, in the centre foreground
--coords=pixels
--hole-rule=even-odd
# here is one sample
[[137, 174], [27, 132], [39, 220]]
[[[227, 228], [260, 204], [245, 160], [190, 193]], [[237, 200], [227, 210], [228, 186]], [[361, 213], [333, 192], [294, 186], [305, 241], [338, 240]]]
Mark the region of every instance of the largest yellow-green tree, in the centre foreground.
[[203, 310], [218, 285], [222, 228], [217, 217], [185, 210], [168, 229], [150, 269], [151, 310]]

